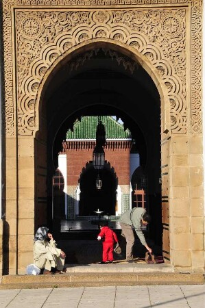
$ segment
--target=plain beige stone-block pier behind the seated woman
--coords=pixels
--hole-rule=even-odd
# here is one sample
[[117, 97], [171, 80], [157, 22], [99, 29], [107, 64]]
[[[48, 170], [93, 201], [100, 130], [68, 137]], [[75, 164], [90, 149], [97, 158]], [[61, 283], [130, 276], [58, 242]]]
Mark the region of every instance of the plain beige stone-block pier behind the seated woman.
[[[19, 137], [18, 140], [18, 203], [17, 248], [18, 273], [25, 274], [25, 267], [33, 262], [34, 244], [34, 138]], [[36, 179], [36, 181], [39, 179]]]

